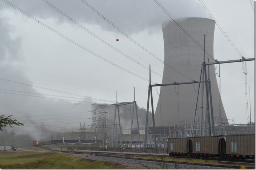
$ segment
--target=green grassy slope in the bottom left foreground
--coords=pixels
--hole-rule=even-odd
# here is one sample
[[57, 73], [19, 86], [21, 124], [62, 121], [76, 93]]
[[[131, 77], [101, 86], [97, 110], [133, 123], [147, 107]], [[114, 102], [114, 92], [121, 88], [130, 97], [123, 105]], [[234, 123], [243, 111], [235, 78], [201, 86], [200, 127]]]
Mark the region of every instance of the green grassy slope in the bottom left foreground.
[[35, 151], [1, 151], [2, 169], [122, 169], [102, 161], [88, 161], [73, 154]]

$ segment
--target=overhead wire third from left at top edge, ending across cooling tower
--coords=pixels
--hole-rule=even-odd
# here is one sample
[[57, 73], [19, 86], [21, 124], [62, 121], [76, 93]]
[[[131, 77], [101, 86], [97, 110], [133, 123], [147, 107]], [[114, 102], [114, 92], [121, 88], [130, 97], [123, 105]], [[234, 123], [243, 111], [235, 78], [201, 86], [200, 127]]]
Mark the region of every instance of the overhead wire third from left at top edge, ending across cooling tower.
[[167, 64], [166, 62], [164, 62], [163, 60], [161, 60], [159, 57], [157, 57], [155, 54], [151, 53], [148, 49], [146, 49], [144, 46], [142, 46], [140, 43], [138, 43], [137, 41], [135, 41], [134, 39], [132, 39], [129, 35], [127, 35], [124, 31], [122, 31], [119, 27], [117, 27], [115, 24], [113, 24], [110, 20], [108, 20], [106, 17], [104, 17], [99, 11], [97, 11], [95, 8], [92, 7], [92, 5], [90, 5], [89, 3], [87, 3], [85, 0], [81, 0], [85, 5], [87, 5], [89, 8], [92, 9], [92, 11], [94, 11], [97, 15], [99, 15], [101, 18], [103, 18], [107, 23], [109, 23], [112, 27], [114, 27], [115, 29], [117, 29], [117, 31], [119, 31], [120, 33], [122, 33], [125, 37], [127, 37], [129, 40], [131, 40], [133, 43], [135, 43], [136, 45], [138, 45], [141, 49], [145, 50], [145, 52], [147, 52], [148, 54], [150, 54], [151, 56], [153, 56], [154, 58], [156, 58], [158, 61], [160, 61], [161, 63], [163, 63], [165, 66], [168, 66], [169, 68], [171, 68], [172, 70], [174, 70], [175, 72], [181, 74], [182, 76], [188, 78], [189, 80], [193, 81], [191, 78], [189, 78], [187, 75], [181, 73], [179, 70], [173, 68], [171, 65]]

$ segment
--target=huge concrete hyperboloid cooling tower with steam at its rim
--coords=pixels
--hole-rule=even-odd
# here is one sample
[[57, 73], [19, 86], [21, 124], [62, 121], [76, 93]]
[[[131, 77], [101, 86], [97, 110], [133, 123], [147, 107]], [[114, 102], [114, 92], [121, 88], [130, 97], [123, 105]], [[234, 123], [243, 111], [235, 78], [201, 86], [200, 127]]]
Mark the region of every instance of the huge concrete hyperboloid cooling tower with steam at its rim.
[[[213, 62], [213, 37], [215, 21], [206, 18], [181, 18], [179, 24], [211, 54], [205, 53], [205, 61]], [[162, 24], [164, 37], [164, 65], [163, 77], [174, 82], [199, 81], [201, 64], [204, 61], [204, 48], [200, 48], [174, 21]], [[179, 72], [176, 72], [178, 70]], [[207, 74], [208, 74], [208, 66]], [[210, 65], [209, 77], [211, 80], [213, 117], [215, 125], [219, 122], [227, 123], [227, 116], [219, 97], [215, 66]], [[185, 76], [184, 76], [185, 75]], [[172, 83], [163, 78], [162, 84]], [[208, 78], [208, 77], [207, 77]], [[162, 86], [155, 112], [156, 126], [173, 126], [191, 124], [195, 115], [198, 84]], [[203, 122], [205, 121], [206, 96], [204, 86]], [[201, 120], [201, 85], [196, 112], [196, 124]], [[196, 126], [195, 124], [195, 126]]]

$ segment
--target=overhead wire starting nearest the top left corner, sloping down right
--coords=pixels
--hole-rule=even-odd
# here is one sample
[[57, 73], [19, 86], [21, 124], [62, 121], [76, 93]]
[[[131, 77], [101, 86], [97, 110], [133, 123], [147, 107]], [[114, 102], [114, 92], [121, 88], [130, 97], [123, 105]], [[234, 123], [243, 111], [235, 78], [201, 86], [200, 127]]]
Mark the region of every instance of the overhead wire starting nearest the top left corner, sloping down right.
[[80, 45], [79, 43], [76, 43], [75, 41], [69, 39], [68, 37], [66, 37], [66, 36], [64, 36], [63, 34], [59, 33], [59, 32], [56, 31], [55, 29], [52, 29], [52, 28], [49, 27], [48, 25], [46, 25], [46, 24], [44, 24], [43, 22], [37, 20], [35, 17], [29, 15], [27, 12], [25, 12], [25, 11], [23, 11], [22, 9], [16, 7], [16, 6], [13, 5], [12, 3], [10, 3], [9, 1], [7, 1], [7, 0], [2, 0], [2, 1], [4, 1], [4, 2], [7, 3], [8, 5], [10, 5], [11, 7], [15, 8], [17, 11], [19, 11], [19, 12], [23, 13], [24, 15], [28, 16], [28, 17], [31, 18], [32, 20], [36, 21], [37, 23], [43, 25], [45, 28], [49, 29], [50, 31], [56, 33], [57, 35], [63, 37], [64, 39], [66, 39], [66, 40], [68, 40], [69, 42], [75, 44], [76, 46], [79, 46], [80, 48], [84, 49], [85, 51], [87, 51], [87, 52], [93, 54], [94, 56], [96, 56], [96, 57], [98, 57], [98, 58], [100, 58], [101, 60], [104, 60], [105, 62], [108, 62], [109, 64], [111, 64], [111, 65], [113, 65], [113, 66], [116, 66], [117, 68], [119, 68], [119, 69], [121, 69], [121, 70], [123, 70], [123, 71], [125, 71], [125, 72], [127, 72], [127, 73], [129, 73], [129, 74], [132, 74], [133, 76], [136, 76], [136, 77], [138, 77], [138, 78], [140, 78], [140, 79], [142, 79], [142, 80], [145, 80], [145, 81], [148, 81], [148, 82], [149, 82], [148, 79], [146, 79], [146, 78], [144, 78], [144, 77], [141, 77], [141, 76], [139, 76], [139, 75], [137, 75], [137, 74], [135, 74], [135, 73], [133, 73], [133, 72], [131, 72], [131, 71], [129, 71], [129, 70], [127, 70], [127, 69], [125, 69], [125, 68], [123, 68], [123, 67], [121, 67], [121, 66], [119, 66], [119, 65], [117, 65], [117, 64], [115, 64], [115, 63], [113, 63], [113, 62], [111, 62], [111, 61], [109, 61], [109, 60], [107, 60], [107, 59], [104, 58], [104, 57], [101, 57], [100, 55], [98, 55], [98, 54], [92, 52], [91, 50], [85, 48], [84, 46]]

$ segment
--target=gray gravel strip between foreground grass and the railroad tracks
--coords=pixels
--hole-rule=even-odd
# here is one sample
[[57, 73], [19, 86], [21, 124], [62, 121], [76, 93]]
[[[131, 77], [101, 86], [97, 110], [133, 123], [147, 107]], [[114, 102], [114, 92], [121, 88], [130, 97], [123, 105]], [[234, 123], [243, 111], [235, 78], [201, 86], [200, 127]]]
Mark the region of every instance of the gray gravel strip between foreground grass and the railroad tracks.
[[[159, 169], [160, 166], [157, 165], [157, 162], [155, 161], [144, 161], [144, 160], [135, 160], [135, 159], [128, 159], [128, 158], [113, 158], [113, 157], [103, 157], [103, 156], [96, 156], [91, 154], [74, 154], [79, 158], [83, 158], [85, 160], [93, 160], [93, 161], [107, 161], [111, 162], [113, 164], [121, 164], [124, 165], [126, 169], [147, 169], [148, 166], [151, 169]], [[140, 165], [139, 163], [145, 165]], [[175, 164], [174, 163], [166, 163], [168, 166], [168, 169], [174, 169]], [[178, 169], [194, 169], [193, 165], [185, 165], [179, 163]], [[196, 165], [196, 169], [223, 169], [223, 167], [213, 167], [213, 166], [199, 166]]]

